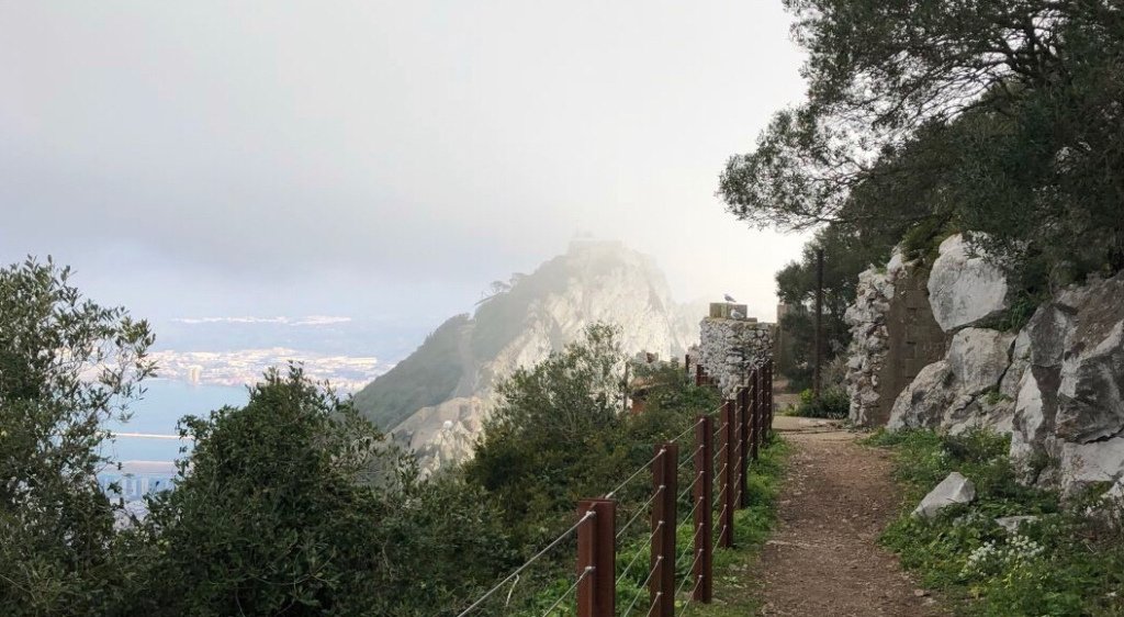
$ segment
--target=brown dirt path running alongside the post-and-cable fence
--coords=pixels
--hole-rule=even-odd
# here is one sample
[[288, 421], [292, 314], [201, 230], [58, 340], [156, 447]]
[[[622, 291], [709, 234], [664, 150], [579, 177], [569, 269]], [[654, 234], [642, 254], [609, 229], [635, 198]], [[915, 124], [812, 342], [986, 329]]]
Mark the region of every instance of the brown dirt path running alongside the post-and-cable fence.
[[761, 555], [762, 615], [943, 615], [877, 545], [897, 512], [889, 455], [834, 424], [778, 417], [795, 452]]

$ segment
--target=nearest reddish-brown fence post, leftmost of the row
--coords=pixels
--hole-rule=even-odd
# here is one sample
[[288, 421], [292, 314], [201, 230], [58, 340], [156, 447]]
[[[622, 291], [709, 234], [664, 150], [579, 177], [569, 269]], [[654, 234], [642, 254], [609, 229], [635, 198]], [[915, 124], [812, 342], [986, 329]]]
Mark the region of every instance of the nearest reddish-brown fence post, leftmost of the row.
[[611, 617], [617, 610], [617, 502], [578, 502], [578, 516], [589, 511], [593, 516], [578, 527], [578, 617]]

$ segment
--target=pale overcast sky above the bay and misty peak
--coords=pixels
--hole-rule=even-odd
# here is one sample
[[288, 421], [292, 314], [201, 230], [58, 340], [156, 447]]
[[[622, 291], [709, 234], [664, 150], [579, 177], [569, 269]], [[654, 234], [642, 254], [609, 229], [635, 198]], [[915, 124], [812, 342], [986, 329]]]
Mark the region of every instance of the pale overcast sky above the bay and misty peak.
[[592, 234], [771, 319], [803, 238], [714, 192], [803, 94], [779, 4], [0, 0], [0, 258], [157, 320], [436, 325]]

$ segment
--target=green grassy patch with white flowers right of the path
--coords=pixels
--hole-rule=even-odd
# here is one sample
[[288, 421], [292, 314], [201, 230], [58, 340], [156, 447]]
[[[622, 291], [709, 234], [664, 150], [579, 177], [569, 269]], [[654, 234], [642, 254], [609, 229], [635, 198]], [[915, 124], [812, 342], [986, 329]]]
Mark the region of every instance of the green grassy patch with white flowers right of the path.
[[[1124, 616], [1124, 534], [1088, 516], [1091, 497], [1062, 505], [1055, 493], [1016, 482], [1006, 437], [879, 432], [867, 444], [896, 452], [894, 473], [906, 493], [881, 543], [922, 584], [944, 591], [958, 613]], [[953, 471], [976, 483], [976, 501], [932, 521], [912, 516]], [[995, 521], [1018, 515], [1037, 518], [1014, 533]]]

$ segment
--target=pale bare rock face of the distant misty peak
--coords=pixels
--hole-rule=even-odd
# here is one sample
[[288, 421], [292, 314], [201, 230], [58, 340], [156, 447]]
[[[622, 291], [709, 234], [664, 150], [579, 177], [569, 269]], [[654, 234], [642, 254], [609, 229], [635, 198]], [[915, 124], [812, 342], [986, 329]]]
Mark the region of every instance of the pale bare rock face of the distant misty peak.
[[[490, 300], [508, 302], [502, 315], [484, 320], [481, 307], [461, 326], [463, 373], [450, 398], [417, 409], [390, 429], [398, 443], [415, 452], [426, 473], [471, 457], [497, 403], [495, 387], [500, 380], [561, 351], [590, 324], [618, 326], [626, 356], [644, 351], [679, 357], [699, 336], [698, 314], [688, 317], [680, 311], [655, 263], [616, 242], [575, 242], [566, 254], [522, 276], [506, 296]], [[508, 326], [517, 330], [514, 336], [493, 352], [479, 352], [481, 328]]]

